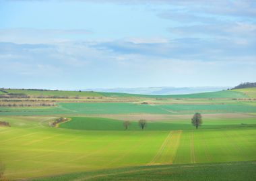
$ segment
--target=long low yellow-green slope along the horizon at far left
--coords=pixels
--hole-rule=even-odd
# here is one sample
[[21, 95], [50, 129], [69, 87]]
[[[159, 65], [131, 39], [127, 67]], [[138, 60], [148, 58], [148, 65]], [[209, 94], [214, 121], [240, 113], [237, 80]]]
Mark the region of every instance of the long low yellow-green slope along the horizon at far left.
[[30, 96], [57, 96], [57, 97], [102, 97], [96, 92], [78, 92], [78, 91], [30, 91], [27, 89], [5, 89], [8, 93], [20, 93]]

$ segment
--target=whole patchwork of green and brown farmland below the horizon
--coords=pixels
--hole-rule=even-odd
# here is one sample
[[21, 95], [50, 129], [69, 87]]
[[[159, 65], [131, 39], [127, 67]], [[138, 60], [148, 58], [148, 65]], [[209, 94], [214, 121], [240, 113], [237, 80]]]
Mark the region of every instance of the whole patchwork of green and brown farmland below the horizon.
[[[102, 99], [53, 98], [58, 101], [51, 107], [0, 107], [0, 121], [11, 125], [0, 127], [3, 178], [223, 180], [225, 175], [255, 180], [256, 102], [252, 93], [243, 92], [179, 99], [95, 93]], [[33, 94], [28, 100], [36, 99]], [[190, 121], [197, 111], [203, 115], [199, 129]], [[50, 127], [59, 117], [69, 121]], [[143, 131], [139, 119], [148, 121]], [[124, 120], [131, 123], [127, 130]]]

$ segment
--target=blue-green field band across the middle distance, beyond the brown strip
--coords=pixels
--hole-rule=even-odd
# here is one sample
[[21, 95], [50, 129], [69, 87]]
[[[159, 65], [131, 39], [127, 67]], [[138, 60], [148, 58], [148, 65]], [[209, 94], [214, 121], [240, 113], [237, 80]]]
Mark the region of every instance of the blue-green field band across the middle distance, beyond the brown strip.
[[0, 115], [83, 115], [83, 114], [193, 114], [255, 113], [256, 104], [246, 102], [141, 105], [137, 103], [59, 103], [57, 107], [0, 107]]

